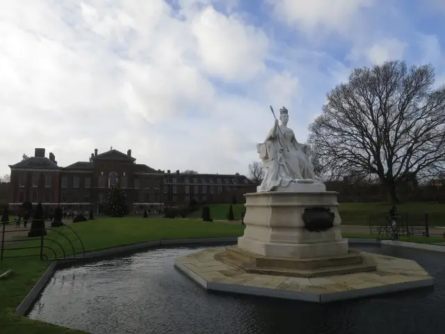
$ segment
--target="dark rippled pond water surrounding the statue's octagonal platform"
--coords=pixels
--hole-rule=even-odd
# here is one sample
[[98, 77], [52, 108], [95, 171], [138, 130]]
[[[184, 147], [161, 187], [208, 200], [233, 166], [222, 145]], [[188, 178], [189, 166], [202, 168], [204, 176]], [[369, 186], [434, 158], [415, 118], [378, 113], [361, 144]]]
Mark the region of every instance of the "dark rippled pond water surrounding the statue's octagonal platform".
[[435, 288], [323, 305], [213, 293], [173, 267], [204, 248], [157, 248], [58, 270], [29, 317], [96, 334], [444, 333], [445, 253], [354, 248], [415, 260]]

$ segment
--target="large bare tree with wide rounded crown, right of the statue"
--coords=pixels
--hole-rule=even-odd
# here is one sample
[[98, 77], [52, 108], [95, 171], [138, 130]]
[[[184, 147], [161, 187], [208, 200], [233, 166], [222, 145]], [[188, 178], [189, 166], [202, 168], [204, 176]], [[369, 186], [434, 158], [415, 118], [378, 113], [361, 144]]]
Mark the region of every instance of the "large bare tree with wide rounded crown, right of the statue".
[[309, 127], [316, 158], [335, 177], [378, 176], [398, 202], [399, 184], [445, 170], [445, 86], [434, 81], [431, 65], [356, 68]]

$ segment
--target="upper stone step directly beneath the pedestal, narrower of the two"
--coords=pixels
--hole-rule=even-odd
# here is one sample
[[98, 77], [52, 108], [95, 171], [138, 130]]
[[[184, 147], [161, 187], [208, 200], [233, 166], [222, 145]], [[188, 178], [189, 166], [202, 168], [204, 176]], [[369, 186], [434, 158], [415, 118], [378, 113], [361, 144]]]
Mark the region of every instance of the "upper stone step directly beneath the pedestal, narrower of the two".
[[340, 267], [362, 263], [360, 252], [350, 249], [347, 254], [333, 257], [314, 257], [309, 259], [289, 259], [283, 257], [266, 257], [254, 254], [247, 250], [232, 246], [226, 248], [227, 255], [238, 259], [251, 267], [257, 268], [280, 268], [280, 269], [318, 269], [327, 267]]

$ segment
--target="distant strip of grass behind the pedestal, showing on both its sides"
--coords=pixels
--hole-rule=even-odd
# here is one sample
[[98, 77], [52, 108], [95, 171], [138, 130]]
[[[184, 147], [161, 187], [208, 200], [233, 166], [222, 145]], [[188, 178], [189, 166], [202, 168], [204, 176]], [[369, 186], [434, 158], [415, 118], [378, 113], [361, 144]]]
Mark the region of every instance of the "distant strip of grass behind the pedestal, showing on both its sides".
[[[228, 204], [209, 205], [211, 218], [227, 219]], [[241, 212], [245, 210], [243, 204], [235, 204], [235, 219], [241, 219]], [[408, 214], [410, 221], [421, 222], [428, 212], [428, 223], [432, 226], [445, 226], [445, 204], [430, 203], [402, 203], [397, 206], [400, 214]], [[341, 203], [339, 214], [343, 225], [369, 225], [369, 219], [375, 214], [387, 214], [391, 205], [387, 203]], [[193, 212], [191, 218], [201, 218], [201, 210]], [[379, 225], [375, 223], [373, 225]]]

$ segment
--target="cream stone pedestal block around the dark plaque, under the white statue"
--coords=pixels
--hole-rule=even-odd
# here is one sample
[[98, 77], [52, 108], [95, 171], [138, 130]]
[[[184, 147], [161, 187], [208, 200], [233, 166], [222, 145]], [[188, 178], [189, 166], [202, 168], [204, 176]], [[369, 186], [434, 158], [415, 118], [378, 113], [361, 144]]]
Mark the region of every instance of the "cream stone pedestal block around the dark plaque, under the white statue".
[[[266, 257], [309, 259], [348, 254], [348, 240], [341, 237], [341, 218], [334, 191], [245, 194], [246, 225], [238, 248]], [[309, 232], [302, 214], [305, 209], [322, 207], [334, 214], [332, 228]]]

